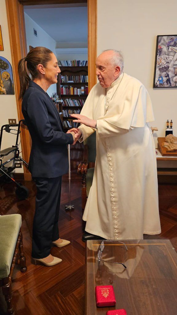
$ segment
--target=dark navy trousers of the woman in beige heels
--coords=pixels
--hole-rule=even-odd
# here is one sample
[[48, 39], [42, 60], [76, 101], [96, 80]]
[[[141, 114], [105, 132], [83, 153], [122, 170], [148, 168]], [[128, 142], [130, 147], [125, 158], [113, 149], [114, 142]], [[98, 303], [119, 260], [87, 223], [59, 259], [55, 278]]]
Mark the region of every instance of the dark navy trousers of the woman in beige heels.
[[32, 257], [44, 258], [50, 254], [51, 244], [59, 238], [61, 179], [35, 177], [37, 194], [33, 220]]

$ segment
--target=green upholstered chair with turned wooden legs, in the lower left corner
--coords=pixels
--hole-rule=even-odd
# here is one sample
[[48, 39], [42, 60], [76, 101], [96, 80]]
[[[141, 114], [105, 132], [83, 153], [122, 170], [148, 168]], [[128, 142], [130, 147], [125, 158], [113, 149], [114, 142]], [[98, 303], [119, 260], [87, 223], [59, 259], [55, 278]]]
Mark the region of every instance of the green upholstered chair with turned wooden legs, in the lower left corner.
[[[20, 259], [17, 259], [18, 251]], [[11, 281], [15, 263], [20, 264], [21, 272], [26, 272], [26, 259], [23, 252], [21, 215], [0, 216], [0, 286], [7, 303], [8, 314], [14, 315], [11, 303]]]

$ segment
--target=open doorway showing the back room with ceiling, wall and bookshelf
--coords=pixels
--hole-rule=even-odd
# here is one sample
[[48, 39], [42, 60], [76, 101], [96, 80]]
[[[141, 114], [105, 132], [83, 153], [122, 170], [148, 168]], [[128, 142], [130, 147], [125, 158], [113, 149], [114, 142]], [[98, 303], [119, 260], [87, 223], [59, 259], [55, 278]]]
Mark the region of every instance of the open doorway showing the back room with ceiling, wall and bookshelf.
[[[43, 46], [57, 57], [58, 83], [47, 90], [60, 112], [64, 132], [77, 127], [70, 114], [80, 113], [88, 95], [87, 3], [24, 6], [27, 52]], [[83, 144], [70, 146], [71, 176], [83, 158]]]

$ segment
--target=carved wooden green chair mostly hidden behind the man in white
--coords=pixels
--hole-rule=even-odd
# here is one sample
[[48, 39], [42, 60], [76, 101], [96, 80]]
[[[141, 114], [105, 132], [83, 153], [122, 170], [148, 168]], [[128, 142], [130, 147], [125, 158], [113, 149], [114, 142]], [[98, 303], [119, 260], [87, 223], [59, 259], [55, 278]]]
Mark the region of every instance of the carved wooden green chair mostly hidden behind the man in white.
[[96, 159], [96, 132], [84, 141], [83, 161], [79, 164], [77, 172], [82, 175], [82, 210], [85, 209], [88, 193], [92, 186], [94, 164]]

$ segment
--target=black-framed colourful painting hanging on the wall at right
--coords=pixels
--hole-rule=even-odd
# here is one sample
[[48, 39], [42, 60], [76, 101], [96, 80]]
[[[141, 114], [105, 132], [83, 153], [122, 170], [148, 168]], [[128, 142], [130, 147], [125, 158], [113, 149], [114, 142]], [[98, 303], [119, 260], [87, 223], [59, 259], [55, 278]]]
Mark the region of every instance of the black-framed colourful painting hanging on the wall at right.
[[177, 35], [158, 35], [153, 88], [177, 88]]

